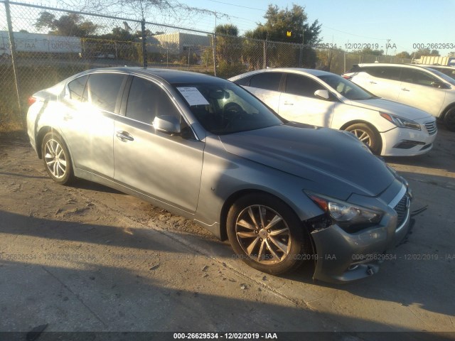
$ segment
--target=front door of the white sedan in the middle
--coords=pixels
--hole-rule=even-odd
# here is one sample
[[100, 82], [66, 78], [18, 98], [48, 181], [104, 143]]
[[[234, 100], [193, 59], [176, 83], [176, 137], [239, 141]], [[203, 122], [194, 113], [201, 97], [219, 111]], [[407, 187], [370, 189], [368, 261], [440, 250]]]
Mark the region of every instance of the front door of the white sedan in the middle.
[[316, 90], [328, 90], [304, 75], [287, 73], [278, 114], [289, 121], [316, 126], [331, 126], [334, 102], [316, 97]]

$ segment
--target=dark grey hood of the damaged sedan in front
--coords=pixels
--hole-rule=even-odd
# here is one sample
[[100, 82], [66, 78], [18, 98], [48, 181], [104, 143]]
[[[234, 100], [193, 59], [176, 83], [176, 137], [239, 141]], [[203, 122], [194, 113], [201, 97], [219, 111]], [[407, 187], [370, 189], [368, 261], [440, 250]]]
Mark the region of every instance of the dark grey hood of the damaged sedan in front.
[[289, 122], [219, 138], [229, 153], [306, 179], [305, 189], [340, 199], [379, 195], [395, 179], [358, 139], [334, 129]]

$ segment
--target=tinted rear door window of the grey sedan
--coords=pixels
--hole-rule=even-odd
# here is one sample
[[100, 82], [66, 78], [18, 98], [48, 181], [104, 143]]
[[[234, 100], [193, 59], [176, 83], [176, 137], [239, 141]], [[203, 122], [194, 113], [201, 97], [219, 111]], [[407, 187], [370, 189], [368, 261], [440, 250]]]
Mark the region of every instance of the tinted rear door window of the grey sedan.
[[83, 100], [102, 110], [118, 114], [117, 99], [119, 99], [119, 92], [123, 89], [126, 80], [127, 75], [117, 73], [92, 74], [88, 78]]

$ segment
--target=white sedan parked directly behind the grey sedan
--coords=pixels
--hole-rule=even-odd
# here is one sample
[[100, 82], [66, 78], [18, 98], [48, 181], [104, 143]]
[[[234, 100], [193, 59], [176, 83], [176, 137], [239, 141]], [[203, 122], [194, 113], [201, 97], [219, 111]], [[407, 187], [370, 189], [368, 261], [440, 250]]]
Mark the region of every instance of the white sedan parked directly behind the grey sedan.
[[230, 81], [284, 119], [350, 131], [382, 156], [427, 153], [437, 135], [436, 120], [427, 112], [375, 97], [331, 72], [271, 68]]

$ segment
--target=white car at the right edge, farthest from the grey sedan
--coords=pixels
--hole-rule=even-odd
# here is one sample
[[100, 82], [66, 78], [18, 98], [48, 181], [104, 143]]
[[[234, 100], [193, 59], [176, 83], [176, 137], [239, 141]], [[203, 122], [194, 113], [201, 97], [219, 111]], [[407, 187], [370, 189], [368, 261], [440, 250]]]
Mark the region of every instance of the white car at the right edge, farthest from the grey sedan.
[[433, 66], [355, 64], [343, 77], [377, 96], [422, 109], [455, 131], [455, 80]]

